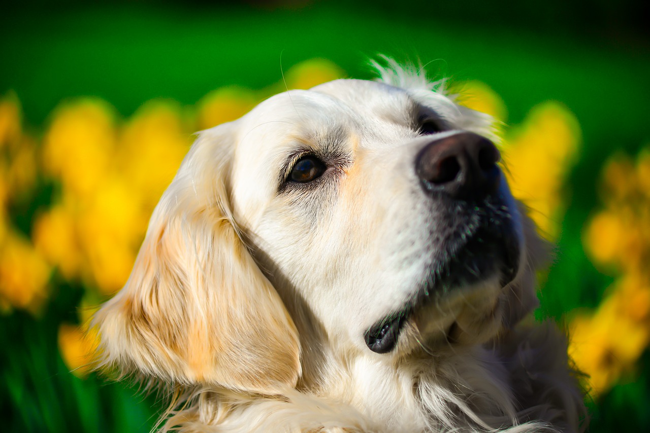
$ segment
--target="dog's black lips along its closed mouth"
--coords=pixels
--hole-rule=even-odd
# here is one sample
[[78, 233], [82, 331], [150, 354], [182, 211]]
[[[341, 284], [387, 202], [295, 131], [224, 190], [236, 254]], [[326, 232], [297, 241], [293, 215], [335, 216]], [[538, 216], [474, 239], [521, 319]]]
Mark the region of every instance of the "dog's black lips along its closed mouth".
[[[519, 235], [508, 218], [487, 218], [487, 223], [478, 225], [473, 233], [465, 231], [463, 236], [454, 236], [443, 254], [434, 258], [412, 299], [365, 332], [367, 347], [375, 353], [389, 353], [395, 348], [404, 325], [427, 306], [441, 306], [458, 297], [465, 299], [468, 291], [487, 280], [498, 281], [499, 288], [504, 288], [519, 270], [520, 248]], [[454, 315], [459, 313], [443, 314], [443, 310], [437, 309], [445, 316], [437, 326], [445, 334], [445, 340], [454, 343], [458, 335]]]

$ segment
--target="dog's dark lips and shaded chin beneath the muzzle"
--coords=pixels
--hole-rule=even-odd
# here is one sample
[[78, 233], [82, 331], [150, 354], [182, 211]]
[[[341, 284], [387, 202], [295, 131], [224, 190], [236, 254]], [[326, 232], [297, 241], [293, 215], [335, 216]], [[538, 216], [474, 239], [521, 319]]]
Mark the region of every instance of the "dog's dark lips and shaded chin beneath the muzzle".
[[474, 236], [448, 242], [445, 260], [434, 259], [408, 303], [365, 332], [375, 353], [417, 345], [481, 343], [495, 336], [502, 322], [501, 294], [520, 270], [523, 251], [512, 219], [483, 225]]

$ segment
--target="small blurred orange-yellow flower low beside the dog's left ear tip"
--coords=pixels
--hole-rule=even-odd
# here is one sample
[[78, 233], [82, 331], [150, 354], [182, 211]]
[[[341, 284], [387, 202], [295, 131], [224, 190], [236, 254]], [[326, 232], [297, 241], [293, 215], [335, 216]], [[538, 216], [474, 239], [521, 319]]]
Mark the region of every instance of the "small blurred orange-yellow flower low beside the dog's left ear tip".
[[68, 323], [59, 326], [59, 352], [73, 375], [79, 378], [88, 377], [97, 345], [98, 339], [94, 330], [84, 332], [82, 327]]

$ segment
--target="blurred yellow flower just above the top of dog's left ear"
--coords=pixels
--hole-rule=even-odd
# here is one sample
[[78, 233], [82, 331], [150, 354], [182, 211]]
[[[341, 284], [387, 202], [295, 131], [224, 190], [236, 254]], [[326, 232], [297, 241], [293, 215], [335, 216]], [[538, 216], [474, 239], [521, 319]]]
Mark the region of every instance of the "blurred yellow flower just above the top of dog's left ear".
[[244, 116], [258, 98], [250, 90], [226, 87], [208, 93], [199, 102], [199, 129], [207, 129]]

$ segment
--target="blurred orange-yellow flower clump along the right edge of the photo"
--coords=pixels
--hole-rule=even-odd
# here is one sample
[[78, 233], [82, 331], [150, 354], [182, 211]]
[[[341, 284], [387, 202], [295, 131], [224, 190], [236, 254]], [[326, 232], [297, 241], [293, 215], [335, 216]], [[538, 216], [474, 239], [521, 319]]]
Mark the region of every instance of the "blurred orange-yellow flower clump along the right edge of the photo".
[[650, 195], [648, 149], [636, 164], [617, 154], [606, 162], [601, 182], [604, 209], [583, 233], [586, 251], [599, 267], [621, 275], [594, 312], [571, 322], [571, 355], [590, 375], [596, 395], [631, 371], [650, 344]]

